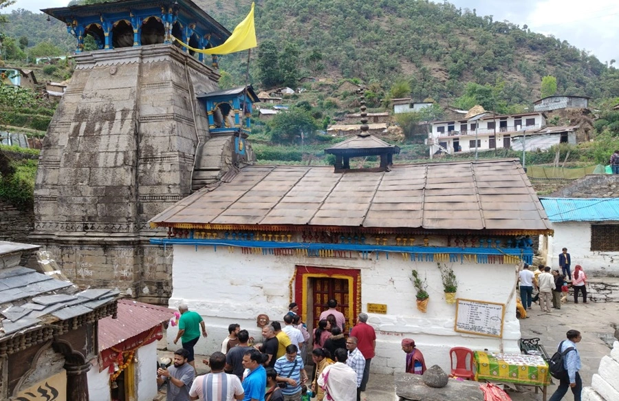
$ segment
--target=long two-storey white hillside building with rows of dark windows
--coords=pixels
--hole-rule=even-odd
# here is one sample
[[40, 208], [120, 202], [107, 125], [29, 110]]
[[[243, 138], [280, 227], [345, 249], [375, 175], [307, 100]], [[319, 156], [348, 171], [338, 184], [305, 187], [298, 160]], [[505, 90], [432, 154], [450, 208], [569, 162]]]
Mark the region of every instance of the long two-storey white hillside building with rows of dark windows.
[[474, 152], [489, 149], [510, 149], [512, 137], [539, 131], [545, 127], [542, 113], [495, 115], [485, 113], [479, 118], [436, 121], [428, 134], [430, 154]]

